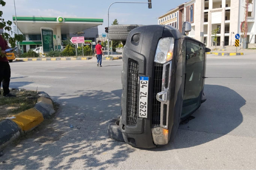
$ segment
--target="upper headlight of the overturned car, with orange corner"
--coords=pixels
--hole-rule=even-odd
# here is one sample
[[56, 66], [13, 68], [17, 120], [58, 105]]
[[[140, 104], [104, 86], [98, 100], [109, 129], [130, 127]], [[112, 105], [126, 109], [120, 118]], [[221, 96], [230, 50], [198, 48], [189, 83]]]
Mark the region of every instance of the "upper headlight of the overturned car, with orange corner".
[[172, 60], [174, 48], [174, 38], [161, 38], [157, 44], [157, 51], [154, 62], [164, 64]]

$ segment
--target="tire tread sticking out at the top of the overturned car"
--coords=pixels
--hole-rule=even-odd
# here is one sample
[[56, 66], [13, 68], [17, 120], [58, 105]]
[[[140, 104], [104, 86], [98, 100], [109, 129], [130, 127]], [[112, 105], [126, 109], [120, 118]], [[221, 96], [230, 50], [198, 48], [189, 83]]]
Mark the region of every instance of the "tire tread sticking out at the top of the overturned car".
[[113, 25], [108, 28], [108, 38], [110, 40], [126, 41], [129, 32], [142, 25]]

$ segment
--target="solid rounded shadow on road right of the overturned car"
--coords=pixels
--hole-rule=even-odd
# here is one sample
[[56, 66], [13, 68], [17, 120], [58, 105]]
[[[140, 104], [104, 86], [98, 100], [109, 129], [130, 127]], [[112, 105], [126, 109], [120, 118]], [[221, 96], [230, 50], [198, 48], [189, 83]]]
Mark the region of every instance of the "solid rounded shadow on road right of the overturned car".
[[205, 85], [204, 92], [207, 101], [192, 114], [195, 119], [180, 125], [175, 140], [156, 151], [204, 144], [230, 133], [243, 122], [240, 108], [246, 100], [236, 91], [220, 85]]

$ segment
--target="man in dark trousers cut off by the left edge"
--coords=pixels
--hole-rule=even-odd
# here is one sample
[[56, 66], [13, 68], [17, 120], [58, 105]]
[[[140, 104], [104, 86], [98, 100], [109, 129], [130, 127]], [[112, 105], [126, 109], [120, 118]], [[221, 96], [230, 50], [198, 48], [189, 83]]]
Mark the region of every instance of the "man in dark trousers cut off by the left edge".
[[[6, 49], [11, 47], [8, 46], [6, 40], [2, 37], [3, 28], [0, 28], [0, 87], [3, 82], [3, 96], [5, 97], [15, 97], [15, 95], [10, 94], [9, 84], [11, 78], [11, 68], [6, 57]], [[0, 91], [1, 94], [1, 91]]]

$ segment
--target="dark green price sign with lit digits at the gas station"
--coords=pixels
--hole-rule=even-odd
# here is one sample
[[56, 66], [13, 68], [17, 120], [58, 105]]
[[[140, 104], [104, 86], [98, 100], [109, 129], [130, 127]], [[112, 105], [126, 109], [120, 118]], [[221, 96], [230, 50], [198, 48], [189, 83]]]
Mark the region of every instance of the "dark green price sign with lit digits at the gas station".
[[53, 51], [53, 29], [41, 27], [43, 51]]

